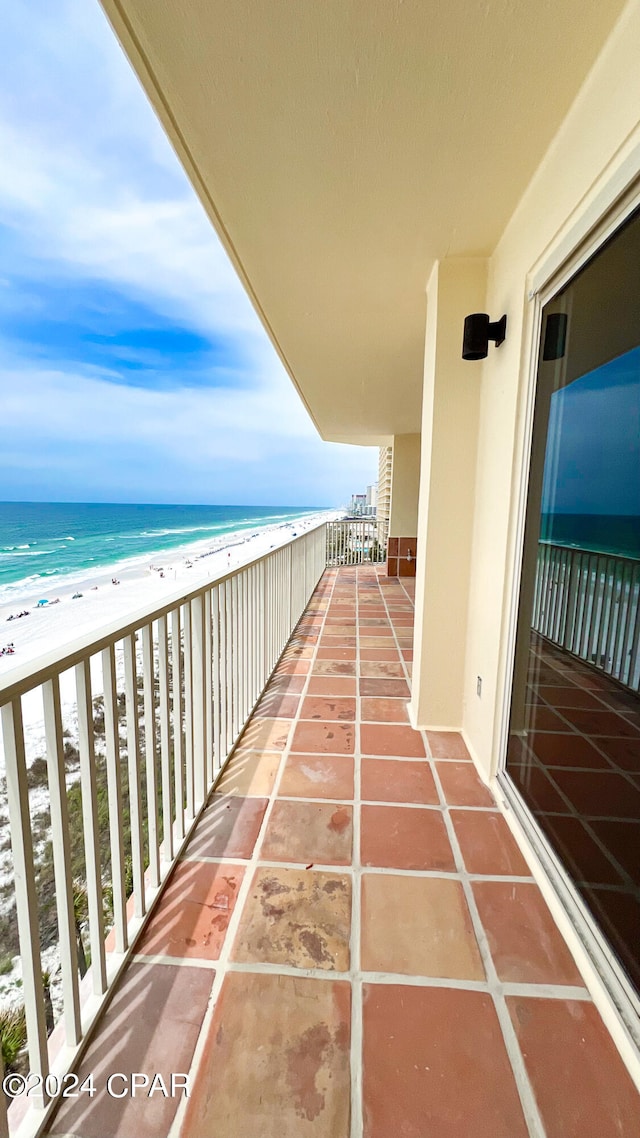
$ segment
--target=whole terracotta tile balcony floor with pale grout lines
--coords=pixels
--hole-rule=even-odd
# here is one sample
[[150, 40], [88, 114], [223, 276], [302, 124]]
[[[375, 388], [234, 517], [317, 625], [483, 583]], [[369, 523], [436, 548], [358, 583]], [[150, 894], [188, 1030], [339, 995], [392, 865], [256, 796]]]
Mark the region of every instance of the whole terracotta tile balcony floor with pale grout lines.
[[413, 582], [328, 570], [79, 1075], [63, 1138], [633, 1138], [640, 1098], [457, 734]]

